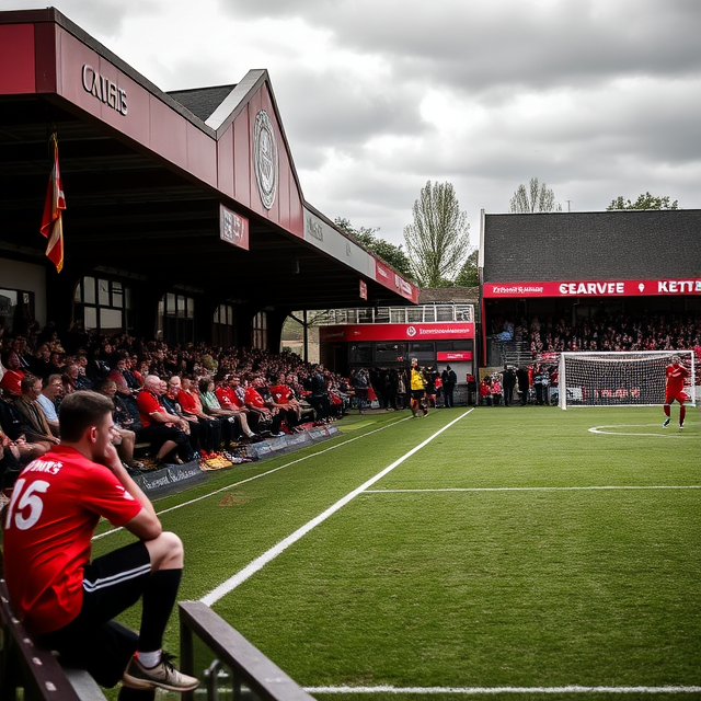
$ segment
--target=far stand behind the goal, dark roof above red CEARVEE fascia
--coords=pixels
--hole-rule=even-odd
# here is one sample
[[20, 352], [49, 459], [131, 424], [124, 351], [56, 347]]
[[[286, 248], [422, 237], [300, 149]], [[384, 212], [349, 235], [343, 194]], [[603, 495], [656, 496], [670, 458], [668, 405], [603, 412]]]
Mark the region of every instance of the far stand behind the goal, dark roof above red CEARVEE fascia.
[[483, 365], [518, 358], [503, 319], [701, 315], [699, 209], [483, 215], [480, 239]]

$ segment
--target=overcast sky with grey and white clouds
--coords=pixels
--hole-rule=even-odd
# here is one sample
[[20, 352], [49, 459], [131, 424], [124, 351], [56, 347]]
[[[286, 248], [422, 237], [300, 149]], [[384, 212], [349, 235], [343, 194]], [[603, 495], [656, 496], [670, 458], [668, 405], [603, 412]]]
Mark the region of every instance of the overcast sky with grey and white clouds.
[[428, 180], [453, 184], [473, 245], [533, 176], [564, 211], [645, 191], [701, 208], [699, 0], [56, 7], [165, 91], [267, 69], [306, 199], [395, 244]]

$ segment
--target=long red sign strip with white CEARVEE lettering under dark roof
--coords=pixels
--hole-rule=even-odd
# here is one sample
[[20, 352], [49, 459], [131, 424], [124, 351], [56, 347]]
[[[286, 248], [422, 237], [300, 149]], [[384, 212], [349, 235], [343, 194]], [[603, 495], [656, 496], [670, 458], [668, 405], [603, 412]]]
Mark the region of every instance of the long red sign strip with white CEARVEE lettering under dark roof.
[[491, 299], [510, 297], [650, 297], [701, 295], [701, 278], [485, 283], [482, 295]]

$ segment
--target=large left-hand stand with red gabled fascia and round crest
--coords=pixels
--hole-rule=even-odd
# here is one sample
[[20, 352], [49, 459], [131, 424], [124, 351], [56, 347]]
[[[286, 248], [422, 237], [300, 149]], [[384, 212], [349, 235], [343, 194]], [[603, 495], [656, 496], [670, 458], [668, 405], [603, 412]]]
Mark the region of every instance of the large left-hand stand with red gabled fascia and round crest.
[[[39, 233], [51, 133], [60, 273]], [[2, 325], [277, 349], [291, 310], [417, 294], [306, 202], [265, 70], [165, 93], [54, 8], [0, 12]]]

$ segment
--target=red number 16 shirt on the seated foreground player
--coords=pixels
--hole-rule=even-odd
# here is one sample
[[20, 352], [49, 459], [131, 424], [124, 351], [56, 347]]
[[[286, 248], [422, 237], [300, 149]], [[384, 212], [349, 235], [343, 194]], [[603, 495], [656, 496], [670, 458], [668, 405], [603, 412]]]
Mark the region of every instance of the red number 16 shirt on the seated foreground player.
[[55, 446], [20, 474], [4, 524], [10, 599], [36, 633], [70, 623], [83, 601], [83, 570], [100, 517], [124, 526], [141, 510], [108, 468]]

